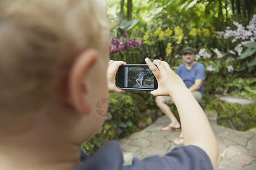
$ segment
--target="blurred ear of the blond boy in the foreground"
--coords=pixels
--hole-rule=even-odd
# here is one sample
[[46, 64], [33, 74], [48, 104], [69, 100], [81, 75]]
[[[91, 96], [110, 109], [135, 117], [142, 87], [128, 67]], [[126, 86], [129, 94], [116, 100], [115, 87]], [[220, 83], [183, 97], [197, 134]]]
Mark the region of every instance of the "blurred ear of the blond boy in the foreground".
[[69, 73], [69, 96], [73, 106], [81, 114], [89, 114], [91, 106], [85, 99], [87, 93], [84, 78], [95, 64], [98, 53], [94, 49], [86, 49], [76, 57]]

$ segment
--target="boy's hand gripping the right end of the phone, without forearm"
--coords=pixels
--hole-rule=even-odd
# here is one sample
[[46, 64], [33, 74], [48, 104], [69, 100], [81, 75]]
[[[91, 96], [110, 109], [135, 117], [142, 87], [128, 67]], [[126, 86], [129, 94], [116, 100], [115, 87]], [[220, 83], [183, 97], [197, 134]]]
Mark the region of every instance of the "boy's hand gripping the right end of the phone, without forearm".
[[152, 95], [172, 96], [174, 92], [187, 88], [183, 80], [170, 68], [167, 62], [159, 59], [151, 62], [149, 58], [146, 58], [145, 61], [158, 80], [158, 89], [151, 91]]

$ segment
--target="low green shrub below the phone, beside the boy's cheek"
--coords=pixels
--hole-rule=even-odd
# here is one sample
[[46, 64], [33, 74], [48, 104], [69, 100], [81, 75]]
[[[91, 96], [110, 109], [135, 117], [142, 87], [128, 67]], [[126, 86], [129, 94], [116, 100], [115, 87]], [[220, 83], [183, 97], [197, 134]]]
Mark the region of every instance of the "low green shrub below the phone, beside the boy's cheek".
[[102, 130], [81, 145], [86, 153], [97, 151], [105, 142], [124, 137], [137, 130], [138, 109], [130, 96], [111, 92], [109, 113], [112, 119], [107, 120]]

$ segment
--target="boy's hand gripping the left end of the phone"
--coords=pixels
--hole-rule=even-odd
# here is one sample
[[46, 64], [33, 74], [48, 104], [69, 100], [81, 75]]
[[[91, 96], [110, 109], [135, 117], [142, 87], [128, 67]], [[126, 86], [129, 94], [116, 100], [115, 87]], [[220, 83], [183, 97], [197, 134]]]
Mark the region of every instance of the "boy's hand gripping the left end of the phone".
[[117, 74], [117, 70], [121, 65], [126, 65], [126, 62], [110, 60], [107, 71], [107, 82], [109, 91], [116, 92], [117, 94], [122, 94], [125, 92], [125, 90], [121, 90], [117, 88], [117, 86], [115, 86], [115, 75]]

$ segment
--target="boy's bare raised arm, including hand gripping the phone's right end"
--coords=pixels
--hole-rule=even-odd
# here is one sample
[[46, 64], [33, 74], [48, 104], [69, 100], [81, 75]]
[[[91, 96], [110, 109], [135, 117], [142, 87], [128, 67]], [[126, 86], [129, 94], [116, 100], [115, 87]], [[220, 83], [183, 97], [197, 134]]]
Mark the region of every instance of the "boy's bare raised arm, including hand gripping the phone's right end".
[[195, 145], [203, 149], [215, 169], [218, 160], [218, 145], [203, 109], [167, 62], [155, 59], [153, 63], [158, 66], [156, 67], [150, 59], [145, 60], [158, 80], [158, 89], [152, 91], [151, 94], [154, 96], [170, 95], [174, 99], [179, 111], [185, 145]]

